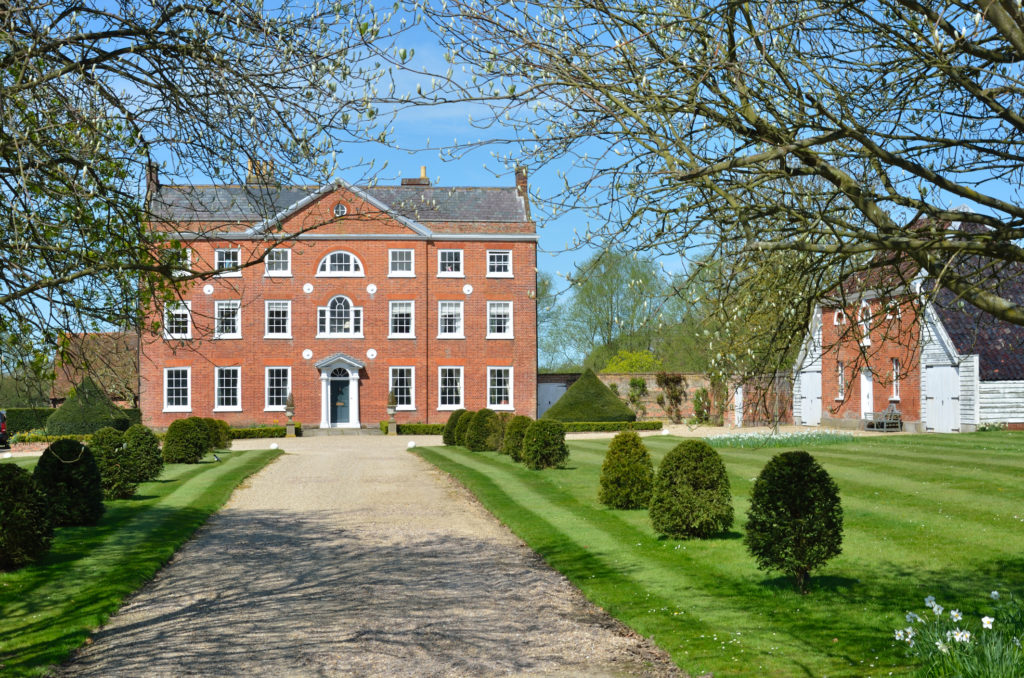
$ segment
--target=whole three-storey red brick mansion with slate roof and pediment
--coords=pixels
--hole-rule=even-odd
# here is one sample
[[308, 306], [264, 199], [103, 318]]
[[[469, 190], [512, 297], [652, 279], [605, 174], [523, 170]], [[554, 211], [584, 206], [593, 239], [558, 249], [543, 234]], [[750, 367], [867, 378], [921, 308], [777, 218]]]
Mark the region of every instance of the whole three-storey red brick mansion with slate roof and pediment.
[[190, 270], [223, 272], [155, 311], [162, 334], [140, 342], [146, 424], [284, 424], [289, 393], [305, 427], [375, 427], [389, 392], [399, 423], [459, 408], [536, 415], [524, 172], [498, 188], [152, 178], [150, 200]]

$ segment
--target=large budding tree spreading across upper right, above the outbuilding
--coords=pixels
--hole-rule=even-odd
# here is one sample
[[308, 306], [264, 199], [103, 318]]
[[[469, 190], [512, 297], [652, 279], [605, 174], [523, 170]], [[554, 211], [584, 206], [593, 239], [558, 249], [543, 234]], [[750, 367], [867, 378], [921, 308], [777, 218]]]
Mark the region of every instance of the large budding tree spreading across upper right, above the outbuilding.
[[[511, 161], [559, 166], [549, 213], [590, 213], [574, 245], [725, 263], [740, 303], [722, 305], [733, 312], [716, 330], [743, 331], [752, 289], [775, 303], [760, 308], [782, 338], [806, 330], [823, 295], [863, 291], [841, 281], [886, 295], [919, 274], [1024, 324], [1018, 3], [451, 0], [426, 11], [471, 74], [445, 81], [446, 95], [493, 104], [474, 120], [499, 137], [507, 126], [523, 151]], [[766, 287], [779, 271], [785, 285]]]

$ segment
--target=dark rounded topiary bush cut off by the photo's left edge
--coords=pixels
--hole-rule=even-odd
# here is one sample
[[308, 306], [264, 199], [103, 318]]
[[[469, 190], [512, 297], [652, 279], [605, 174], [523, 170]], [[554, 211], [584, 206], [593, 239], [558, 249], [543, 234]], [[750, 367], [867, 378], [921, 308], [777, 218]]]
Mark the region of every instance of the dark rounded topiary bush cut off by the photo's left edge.
[[0, 569], [17, 569], [50, 548], [53, 521], [46, 495], [32, 474], [0, 464]]

